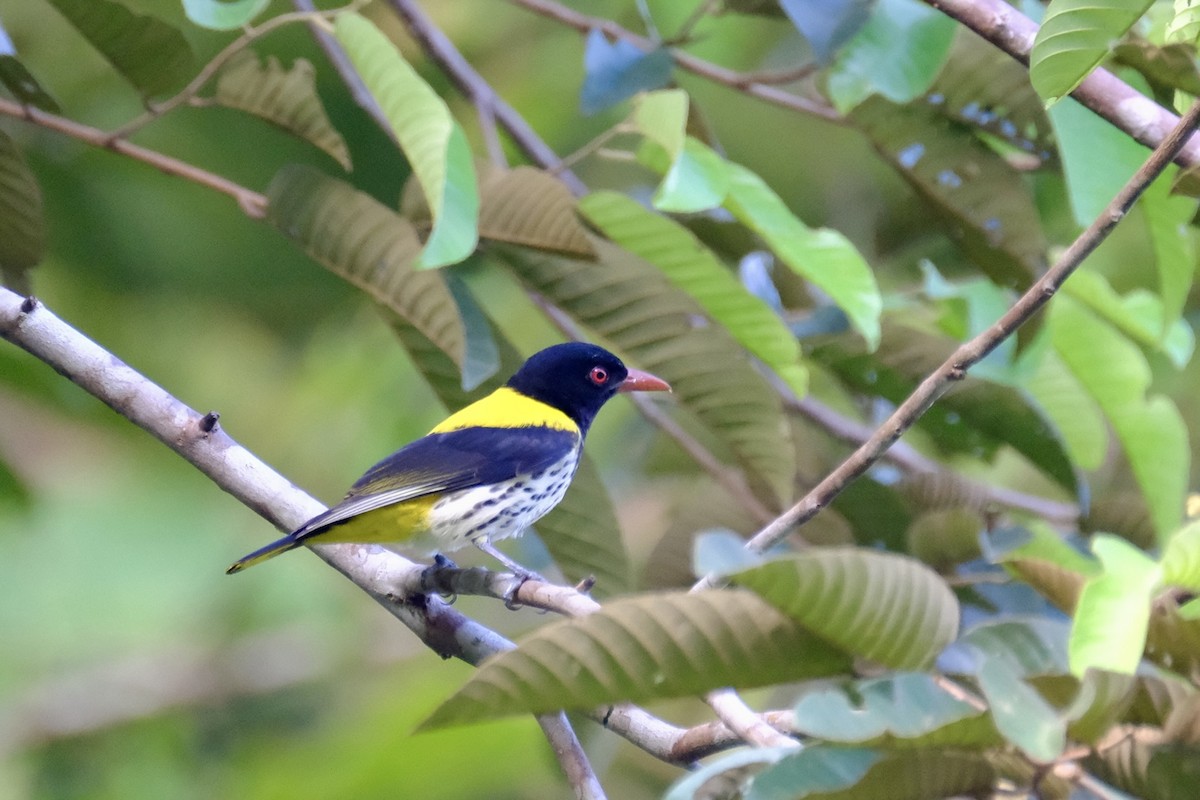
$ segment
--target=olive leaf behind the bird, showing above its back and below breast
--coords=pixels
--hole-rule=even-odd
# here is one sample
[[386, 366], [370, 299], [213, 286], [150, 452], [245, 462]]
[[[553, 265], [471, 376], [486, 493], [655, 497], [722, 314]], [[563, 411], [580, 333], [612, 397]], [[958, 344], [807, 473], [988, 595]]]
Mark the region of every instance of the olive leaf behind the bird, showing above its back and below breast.
[[[392, 330], [413, 363], [445, 407], [457, 410], [498, 389], [521, 366], [522, 357], [512, 343], [493, 331], [499, 350], [499, 371], [472, 390], [458, 380], [458, 367], [412, 324], [398, 314], [385, 312]], [[587, 455], [571, 481], [563, 501], [536, 525], [542, 543], [570, 581], [596, 578], [593, 594], [608, 597], [630, 588], [629, 554], [625, 552], [617, 513], [600, 473]]]

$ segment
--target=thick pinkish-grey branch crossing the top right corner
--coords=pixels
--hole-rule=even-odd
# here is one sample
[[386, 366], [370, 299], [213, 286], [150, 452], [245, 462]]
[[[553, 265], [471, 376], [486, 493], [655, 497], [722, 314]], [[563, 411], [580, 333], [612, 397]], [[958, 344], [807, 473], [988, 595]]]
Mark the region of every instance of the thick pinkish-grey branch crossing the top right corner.
[[[1028, 66], [1038, 25], [1004, 0], [925, 2]], [[1070, 96], [1147, 148], [1157, 148], [1180, 121], [1178, 116], [1104, 68], [1093, 70]], [[1200, 137], [1187, 142], [1175, 161], [1181, 167], [1200, 164]]]

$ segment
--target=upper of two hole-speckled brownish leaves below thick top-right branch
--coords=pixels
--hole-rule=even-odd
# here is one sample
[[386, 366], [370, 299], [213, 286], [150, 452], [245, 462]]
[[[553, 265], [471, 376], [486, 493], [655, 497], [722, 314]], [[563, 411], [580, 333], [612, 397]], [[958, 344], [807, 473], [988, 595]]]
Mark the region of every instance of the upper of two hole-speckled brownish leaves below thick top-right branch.
[[1052, 155], [1054, 131], [1028, 71], [972, 31], [959, 30], [926, 98], [943, 115], [1039, 160]]

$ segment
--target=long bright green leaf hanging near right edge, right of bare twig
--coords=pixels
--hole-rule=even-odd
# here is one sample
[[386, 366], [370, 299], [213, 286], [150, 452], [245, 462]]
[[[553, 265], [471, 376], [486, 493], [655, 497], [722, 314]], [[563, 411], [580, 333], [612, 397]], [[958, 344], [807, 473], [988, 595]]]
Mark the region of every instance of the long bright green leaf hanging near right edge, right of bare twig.
[[1112, 425], [1163, 541], [1187, 494], [1187, 426], [1169, 399], [1146, 397], [1151, 374], [1141, 351], [1072, 297], [1056, 300], [1048, 325], [1058, 355]]

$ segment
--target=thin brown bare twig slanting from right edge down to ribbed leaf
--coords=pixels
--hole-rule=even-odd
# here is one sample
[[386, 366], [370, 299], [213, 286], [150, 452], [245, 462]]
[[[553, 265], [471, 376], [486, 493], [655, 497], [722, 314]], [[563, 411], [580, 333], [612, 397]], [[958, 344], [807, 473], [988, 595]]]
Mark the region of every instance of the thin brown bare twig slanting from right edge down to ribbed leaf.
[[[863, 443], [833, 473], [812, 488], [799, 503], [780, 515], [774, 522], [758, 531], [746, 548], [762, 552], [780, 541], [787, 533], [811, 519], [826, 507], [856, 477], [865, 473], [895, 441], [912, 427], [934, 402], [944, 393], [954, 381], [961, 379], [966, 371], [991, 353], [1001, 342], [1008, 338], [1018, 327], [1036, 314], [1062, 285], [1075, 267], [1096, 247], [1104, 241], [1142, 191], [1171, 162], [1178, 150], [1188, 140], [1196, 121], [1200, 120], [1200, 102], [1192, 106], [1174, 131], [1151, 154], [1145, 164], [1117, 192], [1109, 206], [1081, 233], [1058, 261], [1046, 271], [996, 323], [970, 342], [959, 347], [942, 365], [930, 373], [919, 386], [901, 403], [896, 410], [876, 429], [870, 439]], [[697, 585], [714, 585], [713, 576], [703, 578]]]

